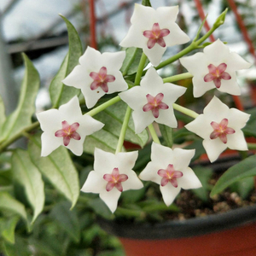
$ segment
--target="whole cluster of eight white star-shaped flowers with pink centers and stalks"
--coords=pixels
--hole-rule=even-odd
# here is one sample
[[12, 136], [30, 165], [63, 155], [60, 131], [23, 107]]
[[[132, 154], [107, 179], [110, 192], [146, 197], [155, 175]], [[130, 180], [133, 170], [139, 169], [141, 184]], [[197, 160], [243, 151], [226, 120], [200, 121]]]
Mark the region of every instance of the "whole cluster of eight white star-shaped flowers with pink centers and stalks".
[[[185, 127], [203, 138], [203, 147], [210, 161], [217, 160], [225, 148], [247, 150], [247, 143], [241, 131], [249, 119], [247, 113], [228, 108], [214, 96], [203, 113], [192, 114], [186, 108], [180, 108], [181, 106], [175, 104], [185, 93], [186, 88], [172, 84], [171, 82], [175, 81], [172, 77], [162, 79], [157, 72], [157, 66], [167, 47], [189, 42], [189, 37], [175, 23], [177, 12], [177, 6], [153, 9], [135, 4], [131, 28], [120, 43], [125, 48], [143, 49], [135, 82], [129, 83], [129, 87], [119, 71], [125, 61], [125, 50], [101, 54], [96, 49], [87, 47], [84, 55], [79, 58], [79, 65], [62, 81], [67, 86], [80, 89], [86, 107], [95, 107], [95, 113], [108, 108], [114, 102], [123, 101], [127, 104], [128, 111], [124, 117], [116, 154], [95, 148], [94, 170], [90, 172], [81, 189], [83, 192], [99, 194], [111, 212], [116, 210], [119, 196], [123, 191], [143, 188], [143, 182], [139, 178], [160, 185], [166, 206], [172, 204], [180, 189], [201, 187], [200, 180], [189, 167], [195, 149], [172, 149], [161, 145], [154, 131], [153, 123], [177, 128], [173, 108], [195, 118]], [[197, 46], [199, 48], [199, 45], [195, 45], [194, 49]], [[143, 76], [147, 58], [151, 67], [144, 70]], [[180, 62], [189, 71], [190, 77], [193, 77], [195, 97], [200, 97], [207, 90], [214, 88], [232, 95], [240, 95], [236, 71], [250, 67], [247, 61], [230, 52], [228, 46], [219, 39], [205, 47], [203, 52], [182, 56]], [[116, 92], [119, 95], [115, 96], [114, 102], [105, 102], [104, 107], [97, 105], [102, 96]], [[120, 152], [130, 113], [135, 133], [140, 134], [148, 127], [154, 141], [151, 147], [151, 161], [139, 177], [132, 170], [138, 152]], [[104, 126], [102, 122], [91, 117], [93, 114], [90, 111], [82, 114], [77, 96], [59, 109], [38, 113], [37, 117], [44, 131], [42, 156], [51, 154], [59, 146], [69, 148], [73, 154], [83, 154], [85, 137]]]

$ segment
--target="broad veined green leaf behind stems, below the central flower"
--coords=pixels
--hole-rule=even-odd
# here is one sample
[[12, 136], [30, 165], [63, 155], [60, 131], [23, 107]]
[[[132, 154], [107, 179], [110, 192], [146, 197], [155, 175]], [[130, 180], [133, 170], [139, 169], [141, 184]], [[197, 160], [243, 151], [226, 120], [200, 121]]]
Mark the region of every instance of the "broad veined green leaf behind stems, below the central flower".
[[[108, 152], [115, 152], [118, 143], [119, 134], [123, 125], [127, 105], [125, 102], [117, 102], [108, 107], [101, 113], [94, 116], [95, 119], [105, 124], [101, 131], [97, 131], [85, 138], [84, 151], [90, 154], [94, 153], [94, 148], [102, 148]], [[148, 142], [148, 132], [143, 131], [136, 134], [133, 120], [130, 119], [125, 133], [125, 141], [140, 145], [142, 148]]]

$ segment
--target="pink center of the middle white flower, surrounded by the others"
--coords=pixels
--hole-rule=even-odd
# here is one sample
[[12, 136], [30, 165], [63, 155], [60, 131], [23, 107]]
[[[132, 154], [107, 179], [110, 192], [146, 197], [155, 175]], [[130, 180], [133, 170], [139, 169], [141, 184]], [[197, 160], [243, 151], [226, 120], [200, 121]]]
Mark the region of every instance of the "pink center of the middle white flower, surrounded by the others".
[[147, 94], [147, 100], [148, 103], [143, 106], [143, 111], [148, 112], [152, 111], [154, 117], [157, 119], [159, 117], [159, 110], [160, 109], [168, 109], [169, 106], [162, 102], [164, 95], [162, 93], [159, 93], [157, 96], [151, 96], [150, 94]]

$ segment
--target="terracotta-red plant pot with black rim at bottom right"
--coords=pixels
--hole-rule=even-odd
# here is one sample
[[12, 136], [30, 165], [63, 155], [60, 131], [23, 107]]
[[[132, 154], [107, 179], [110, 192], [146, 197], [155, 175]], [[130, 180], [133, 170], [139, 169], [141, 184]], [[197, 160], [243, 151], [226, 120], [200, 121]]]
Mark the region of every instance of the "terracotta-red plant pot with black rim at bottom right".
[[256, 205], [165, 224], [100, 225], [119, 237], [126, 256], [256, 255]]

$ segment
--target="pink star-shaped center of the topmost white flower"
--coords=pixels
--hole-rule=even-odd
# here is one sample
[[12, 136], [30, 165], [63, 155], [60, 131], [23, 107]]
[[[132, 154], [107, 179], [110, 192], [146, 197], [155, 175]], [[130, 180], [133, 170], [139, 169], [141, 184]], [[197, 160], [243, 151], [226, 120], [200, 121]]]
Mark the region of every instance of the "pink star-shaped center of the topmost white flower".
[[148, 49], [154, 47], [154, 44], [159, 44], [161, 47], [166, 47], [164, 37], [170, 34], [170, 30], [167, 28], [160, 29], [158, 23], [154, 23], [152, 30], [145, 30], [143, 36], [148, 38]]

